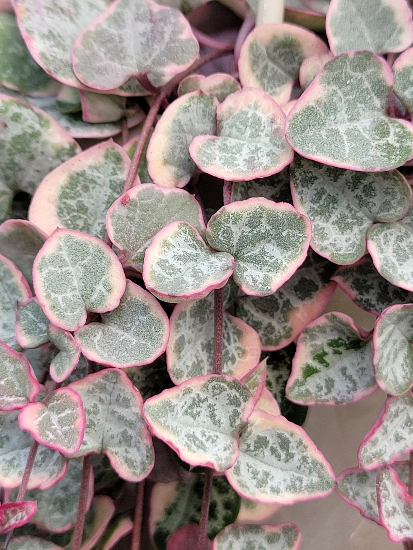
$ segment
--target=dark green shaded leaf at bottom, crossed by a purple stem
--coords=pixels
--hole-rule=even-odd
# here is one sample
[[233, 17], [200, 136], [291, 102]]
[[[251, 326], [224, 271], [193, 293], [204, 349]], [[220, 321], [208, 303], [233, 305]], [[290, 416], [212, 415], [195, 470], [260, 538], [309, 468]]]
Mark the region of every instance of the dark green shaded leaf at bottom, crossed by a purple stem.
[[[173, 532], [189, 522], [199, 524], [205, 476], [194, 474], [186, 481], [156, 483], [151, 493], [149, 530], [157, 550], [165, 550]], [[214, 538], [236, 520], [241, 497], [224, 476], [214, 477], [207, 533]]]

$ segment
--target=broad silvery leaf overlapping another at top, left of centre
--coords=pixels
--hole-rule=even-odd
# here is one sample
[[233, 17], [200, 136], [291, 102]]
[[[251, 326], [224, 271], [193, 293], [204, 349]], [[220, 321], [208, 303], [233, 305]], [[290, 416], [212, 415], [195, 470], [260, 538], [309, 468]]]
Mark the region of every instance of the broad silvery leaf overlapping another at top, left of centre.
[[199, 50], [187, 19], [152, 0], [116, 0], [86, 25], [74, 45], [73, 67], [81, 82], [98, 90], [121, 86], [132, 76], [181, 73]]

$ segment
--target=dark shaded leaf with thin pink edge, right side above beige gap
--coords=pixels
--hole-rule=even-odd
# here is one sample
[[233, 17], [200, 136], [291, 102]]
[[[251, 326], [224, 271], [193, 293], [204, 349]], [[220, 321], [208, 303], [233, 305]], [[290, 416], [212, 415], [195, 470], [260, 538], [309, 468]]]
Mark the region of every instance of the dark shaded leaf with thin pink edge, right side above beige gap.
[[381, 315], [386, 307], [413, 303], [413, 293], [386, 281], [374, 267], [369, 255], [363, 256], [352, 266], [340, 267], [332, 281], [335, 281], [358, 307], [376, 316]]

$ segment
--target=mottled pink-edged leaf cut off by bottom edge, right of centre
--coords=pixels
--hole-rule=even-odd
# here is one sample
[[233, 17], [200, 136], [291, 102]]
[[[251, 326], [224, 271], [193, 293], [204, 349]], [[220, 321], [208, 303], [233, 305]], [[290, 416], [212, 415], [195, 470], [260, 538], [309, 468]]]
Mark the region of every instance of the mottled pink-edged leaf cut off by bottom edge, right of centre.
[[214, 539], [213, 550], [298, 550], [300, 529], [294, 523], [229, 525]]

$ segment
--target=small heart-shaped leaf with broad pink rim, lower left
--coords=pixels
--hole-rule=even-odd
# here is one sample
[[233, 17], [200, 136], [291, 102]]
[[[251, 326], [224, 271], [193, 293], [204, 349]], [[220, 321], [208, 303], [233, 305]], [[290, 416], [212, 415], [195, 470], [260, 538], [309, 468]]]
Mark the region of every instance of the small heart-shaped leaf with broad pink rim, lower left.
[[21, 409], [19, 426], [45, 447], [66, 454], [77, 453], [86, 426], [81, 397], [71, 388], [56, 389], [44, 401], [29, 403]]

